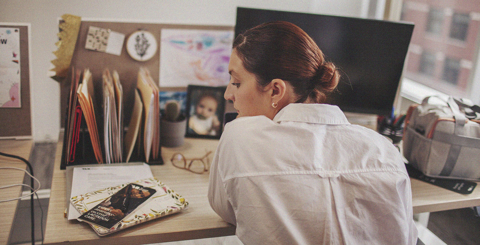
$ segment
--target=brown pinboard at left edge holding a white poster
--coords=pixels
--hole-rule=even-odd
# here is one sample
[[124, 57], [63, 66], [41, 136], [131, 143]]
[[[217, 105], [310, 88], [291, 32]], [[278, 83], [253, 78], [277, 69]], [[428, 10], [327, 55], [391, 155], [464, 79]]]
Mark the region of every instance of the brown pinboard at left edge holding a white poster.
[[[5, 68], [2, 68], [0, 77], [0, 82], [5, 85], [6, 83], [12, 83], [12, 80], [18, 79], [20, 84], [13, 82], [14, 87], [12, 89], [5, 89], [2, 86], [2, 92], [7, 93], [11, 97], [11, 101], [3, 103], [0, 107], [0, 139], [2, 138], [16, 138], [24, 139], [31, 138], [32, 136], [32, 118], [31, 118], [31, 106], [30, 106], [30, 49], [29, 49], [29, 36], [30, 36], [30, 24], [23, 23], [0, 23], [0, 28], [2, 34], [9, 34], [10, 32], [19, 33], [18, 39], [14, 38], [13, 40], [8, 39], [7, 35], [5, 37], [0, 37], [0, 45], [10, 45], [10, 41], [15, 41], [19, 44], [17, 51], [16, 48], [12, 48], [6, 54], [2, 54], [2, 57], [9, 56], [11, 57], [13, 65], [18, 65], [19, 70], [17, 77], [14, 79], [8, 78], [12, 77], [12, 74], [6, 74]], [[3, 36], [3, 35], [1, 35]], [[7, 49], [3, 48], [2, 51]], [[10, 58], [9, 58], [10, 59]], [[2, 61], [3, 62], [3, 61]], [[8, 68], [11, 69], [11, 68]], [[16, 69], [16, 68], [15, 68]], [[16, 69], [18, 70], [18, 69]], [[11, 71], [10, 71], [11, 73]], [[19, 74], [19, 76], [18, 76]], [[8, 85], [9, 86], [9, 85]], [[9, 91], [10, 90], [10, 91]], [[4, 94], [5, 95], [5, 94]], [[2, 96], [5, 97], [5, 96]], [[20, 101], [20, 103], [18, 103]], [[13, 103], [12, 103], [13, 102]]]

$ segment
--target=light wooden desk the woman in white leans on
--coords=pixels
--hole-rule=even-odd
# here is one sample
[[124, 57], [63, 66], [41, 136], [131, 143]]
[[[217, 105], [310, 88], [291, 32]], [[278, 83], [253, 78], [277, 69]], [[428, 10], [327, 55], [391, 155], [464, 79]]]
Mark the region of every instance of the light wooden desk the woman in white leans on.
[[[182, 152], [187, 158], [200, 157], [205, 150], [215, 150], [218, 141], [187, 138], [185, 142], [184, 146], [178, 148], [163, 147], [162, 157], [165, 165], [151, 166], [151, 169], [157, 179], [186, 197], [189, 209], [105, 237], [96, 235], [85, 223], [67, 221], [63, 218], [67, 202], [65, 171], [60, 170], [61, 142], [59, 142], [44, 244], [140, 245], [235, 234], [235, 227], [223, 221], [208, 204], [208, 173], [194, 174], [177, 169], [170, 163], [170, 157], [174, 152]], [[411, 180], [411, 184], [414, 213], [480, 206], [480, 186], [470, 195], [461, 195], [415, 179]]]

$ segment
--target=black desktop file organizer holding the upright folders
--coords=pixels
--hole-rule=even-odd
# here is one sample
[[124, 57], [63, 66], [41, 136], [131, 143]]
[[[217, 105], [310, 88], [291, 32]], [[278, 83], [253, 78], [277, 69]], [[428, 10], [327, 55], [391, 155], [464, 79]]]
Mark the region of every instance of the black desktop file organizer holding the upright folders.
[[[70, 98], [69, 98], [70, 100]], [[65, 133], [63, 135], [63, 146], [62, 146], [62, 156], [61, 156], [61, 162], [60, 162], [60, 169], [66, 169], [67, 166], [72, 166], [72, 165], [83, 165], [83, 164], [98, 164], [97, 160], [95, 158], [95, 153], [93, 151], [92, 147], [92, 141], [90, 140], [90, 134], [88, 132], [88, 127], [87, 123], [85, 121], [85, 118], [82, 114], [82, 119], [80, 123], [80, 130], [79, 130], [79, 135], [78, 135], [78, 143], [76, 144], [75, 147], [75, 154], [74, 154], [74, 160], [70, 161], [66, 159], [66, 153], [67, 153], [67, 147], [70, 141], [68, 140], [68, 132], [67, 131], [67, 125], [69, 121], [69, 110], [67, 108], [66, 111], [66, 116], [65, 116]], [[105, 148], [103, 144], [103, 120], [98, 120], [98, 116], [101, 115], [99, 113], [96, 113], [96, 118], [97, 118], [97, 127], [98, 127], [98, 136], [100, 140], [100, 148], [102, 151], [102, 158], [105, 162]], [[103, 116], [101, 117], [103, 119]], [[142, 115], [142, 122], [144, 122], [144, 115]], [[126, 124], [128, 125], [128, 124]], [[137, 140], [135, 141], [135, 147], [133, 148], [132, 156], [130, 157], [129, 162], [146, 162], [146, 158], [144, 155], [144, 146], [143, 146], [143, 123], [141, 123], [141, 127], [139, 129], [138, 135], [137, 135]], [[123, 135], [125, 135], [125, 130], [123, 132]], [[125, 137], [123, 137], [125, 138]], [[123, 146], [124, 147], [124, 146]], [[163, 159], [162, 159], [162, 151], [161, 151], [161, 146], [159, 146], [158, 149], [158, 159], [152, 159], [150, 157], [149, 161], [147, 164], [149, 165], [162, 165]], [[123, 159], [126, 159], [126, 152], [123, 152]]]

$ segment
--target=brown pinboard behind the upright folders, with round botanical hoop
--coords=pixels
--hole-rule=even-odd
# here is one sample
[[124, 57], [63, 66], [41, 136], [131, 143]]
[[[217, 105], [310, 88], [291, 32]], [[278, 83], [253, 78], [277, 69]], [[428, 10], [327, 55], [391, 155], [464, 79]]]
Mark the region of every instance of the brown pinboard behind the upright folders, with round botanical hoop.
[[[86, 49], [87, 35], [89, 28], [108, 29], [115, 33], [125, 35], [125, 42], [121, 47], [120, 55], [106, 52], [100, 52], [92, 49]], [[121, 85], [123, 87], [124, 96], [124, 120], [127, 124], [131, 117], [132, 103], [134, 97], [134, 89], [136, 88], [137, 75], [140, 67], [146, 67], [153, 79], [159, 84], [160, 79], [160, 62], [161, 62], [161, 33], [165, 29], [176, 30], [208, 30], [208, 31], [231, 31], [233, 41], [233, 26], [212, 26], [212, 25], [180, 25], [180, 24], [152, 24], [152, 23], [126, 23], [126, 22], [99, 22], [99, 21], [82, 21], [80, 30], [72, 56], [71, 66], [77, 69], [90, 69], [96, 89], [101, 89], [102, 71], [108, 68], [110, 71], [116, 70], [120, 75]], [[156, 38], [157, 50], [155, 55], [147, 61], [139, 61], [132, 58], [127, 51], [127, 39], [132, 33], [144, 30]], [[89, 46], [89, 45], [87, 45]], [[91, 45], [90, 45], [91, 46]], [[70, 76], [67, 76], [70, 77]], [[227, 82], [228, 83], [228, 82]], [[168, 86], [159, 84], [161, 91], [186, 91], [186, 86], [175, 86], [170, 83]], [[70, 89], [70, 79], [66, 78], [60, 83], [60, 123], [61, 127], [65, 125], [65, 111], [68, 105], [68, 96]]]

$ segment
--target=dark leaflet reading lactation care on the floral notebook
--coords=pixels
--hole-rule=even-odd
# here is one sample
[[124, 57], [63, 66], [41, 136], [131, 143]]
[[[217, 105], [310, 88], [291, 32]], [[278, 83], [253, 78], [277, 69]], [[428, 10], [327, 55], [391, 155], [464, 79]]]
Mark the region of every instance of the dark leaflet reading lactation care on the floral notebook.
[[120, 191], [82, 214], [78, 220], [110, 230], [155, 193], [155, 189], [140, 184], [127, 184]]

